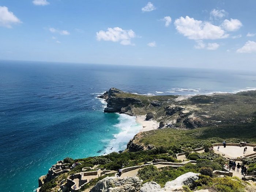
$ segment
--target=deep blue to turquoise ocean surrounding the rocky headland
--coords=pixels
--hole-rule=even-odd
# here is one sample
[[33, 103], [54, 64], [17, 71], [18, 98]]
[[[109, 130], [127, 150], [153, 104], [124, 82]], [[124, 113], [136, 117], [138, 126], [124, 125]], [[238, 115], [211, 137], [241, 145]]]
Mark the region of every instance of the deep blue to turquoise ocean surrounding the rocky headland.
[[134, 117], [103, 113], [97, 95], [110, 87], [147, 95], [237, 93], [256, 89], [256, 72], [0, 61], [1, 191], [34, 191], [65, 157], [123, 150], [142, 127]]

